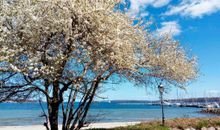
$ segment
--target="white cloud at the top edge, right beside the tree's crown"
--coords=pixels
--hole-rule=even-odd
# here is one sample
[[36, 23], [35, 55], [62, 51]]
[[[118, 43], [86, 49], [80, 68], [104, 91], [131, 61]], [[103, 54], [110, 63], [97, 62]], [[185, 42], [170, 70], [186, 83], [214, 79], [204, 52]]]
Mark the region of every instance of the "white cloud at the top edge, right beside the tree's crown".
[[130, 0], [130, 8], [128, 14], [130, 16], [148, 16], [146, 8], [151, 5], [155, 8], [159, 8], [167, 5], [171, 0]]

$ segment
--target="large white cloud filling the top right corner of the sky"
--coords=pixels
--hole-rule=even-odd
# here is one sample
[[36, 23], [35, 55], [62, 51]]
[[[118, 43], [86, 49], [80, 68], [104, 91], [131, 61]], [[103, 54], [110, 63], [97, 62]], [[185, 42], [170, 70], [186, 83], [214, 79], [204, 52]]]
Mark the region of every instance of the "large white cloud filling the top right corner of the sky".
[[183, 0], [177, 6], [170, 6], [165, 15], [202, 17], [220, 11], [220, 0]]

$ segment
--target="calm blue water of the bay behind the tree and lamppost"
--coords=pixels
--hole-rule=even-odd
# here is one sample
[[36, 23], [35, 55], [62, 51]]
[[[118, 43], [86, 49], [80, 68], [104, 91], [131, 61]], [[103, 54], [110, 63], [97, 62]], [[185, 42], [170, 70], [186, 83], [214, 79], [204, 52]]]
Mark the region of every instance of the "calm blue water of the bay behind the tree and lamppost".
[[[44, 104], [44, 106], [46, 106]], [[166, 118], [212, 117], [216, 115], [198, 113], [200, 108], [165, 107]], [[42, 110], [38, 103], [0, 104], [0, 126], [39, 125]], [[160, 106], [141, 103], [94, 103], [89, 112], [89, 120], [94, 122], [123, 122], [160, 119]]]

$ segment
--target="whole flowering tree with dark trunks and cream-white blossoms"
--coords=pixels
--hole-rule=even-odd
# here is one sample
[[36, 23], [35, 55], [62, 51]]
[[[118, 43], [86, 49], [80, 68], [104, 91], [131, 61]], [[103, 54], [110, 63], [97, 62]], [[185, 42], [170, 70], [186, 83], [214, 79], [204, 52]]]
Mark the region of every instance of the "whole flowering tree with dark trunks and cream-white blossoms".
[[134, 25], [117, 10], [118, 0], [0, 2], [0, 101], [45, 97], [48, 129], [58, 130], [59, 107], [63, 130], [81, 128], [111, 77], [139, 85], [152, 79], [182, 85], [196, 77], [193, 57], [169, 37]]

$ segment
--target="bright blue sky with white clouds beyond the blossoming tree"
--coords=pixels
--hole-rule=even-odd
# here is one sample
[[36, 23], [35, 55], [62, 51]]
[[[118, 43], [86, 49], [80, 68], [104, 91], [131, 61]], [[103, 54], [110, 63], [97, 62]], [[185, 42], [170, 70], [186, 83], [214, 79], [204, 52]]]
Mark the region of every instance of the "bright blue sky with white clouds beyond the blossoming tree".
[[[157, 33], [172, 34], [187, 52], [198, 57], [200, 76], [187, 91], [171, 88], [165, 98], [220, 96], [220, 0], [129, 0], [131, 17], [154, 20]], [[154, 100], [158, 93], [130, 83], [108, 85], [110, 100]]]

